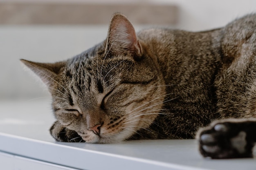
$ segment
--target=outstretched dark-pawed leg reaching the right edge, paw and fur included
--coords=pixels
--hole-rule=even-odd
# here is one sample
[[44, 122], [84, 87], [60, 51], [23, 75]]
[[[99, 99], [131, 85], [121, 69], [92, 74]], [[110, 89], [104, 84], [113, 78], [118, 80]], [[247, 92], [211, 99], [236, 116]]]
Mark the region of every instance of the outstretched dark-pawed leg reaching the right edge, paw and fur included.
[[253, 157], [256, 119], [223, 119], [199, 130], [199, 150], [213, 159]]

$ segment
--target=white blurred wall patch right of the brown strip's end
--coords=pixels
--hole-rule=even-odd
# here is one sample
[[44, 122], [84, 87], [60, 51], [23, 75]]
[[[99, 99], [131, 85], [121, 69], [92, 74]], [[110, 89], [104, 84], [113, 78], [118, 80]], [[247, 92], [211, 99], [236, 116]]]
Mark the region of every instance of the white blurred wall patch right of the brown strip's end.
[[204, 30], [220, 27], [231, 20], [256, 12], [256, 0], [157, 0], [180, 6], [179, 27], [186, 30]]

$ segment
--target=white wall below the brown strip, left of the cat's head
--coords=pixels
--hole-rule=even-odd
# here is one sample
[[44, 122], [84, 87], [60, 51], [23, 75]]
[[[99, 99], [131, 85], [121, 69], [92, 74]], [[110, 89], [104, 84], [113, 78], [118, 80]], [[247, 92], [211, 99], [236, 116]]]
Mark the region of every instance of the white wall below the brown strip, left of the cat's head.
[[56, 62], [106, 38], [107, 26], [0, 26], [0, 99], [48, 96], [19, 59]]

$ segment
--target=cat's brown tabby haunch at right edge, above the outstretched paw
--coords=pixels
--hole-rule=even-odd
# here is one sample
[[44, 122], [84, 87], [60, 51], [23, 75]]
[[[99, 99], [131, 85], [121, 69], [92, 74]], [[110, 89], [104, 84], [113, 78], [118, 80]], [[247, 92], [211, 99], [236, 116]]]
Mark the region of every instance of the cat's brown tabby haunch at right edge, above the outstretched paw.
[[216, 77], [222, 117], [255, 114], [256, 14], [238, 18], [222, 29], [223, 66]]

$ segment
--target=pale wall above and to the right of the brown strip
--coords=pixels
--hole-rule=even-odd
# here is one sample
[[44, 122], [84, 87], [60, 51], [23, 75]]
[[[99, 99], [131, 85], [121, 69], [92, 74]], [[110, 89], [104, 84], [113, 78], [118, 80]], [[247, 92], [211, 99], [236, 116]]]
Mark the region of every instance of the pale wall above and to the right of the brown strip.
[[177, 4], [180, 8], [178, 27], [189, 30], [219, 27], [238, 16], [256, 11], [256, 0], [0, 0], [0, 2]]

